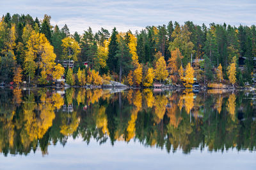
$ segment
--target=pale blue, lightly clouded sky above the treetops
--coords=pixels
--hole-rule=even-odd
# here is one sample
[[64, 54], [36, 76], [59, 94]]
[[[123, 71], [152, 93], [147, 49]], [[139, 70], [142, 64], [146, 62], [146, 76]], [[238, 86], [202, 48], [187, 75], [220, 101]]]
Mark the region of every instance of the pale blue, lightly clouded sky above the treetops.
[[148, 25], [167, 25], [170, 20], [184, 24], [255, 25], [255, 0], [1, 0], [0, 14], [29, 14], [33, 18], [51, 15], [51, 24], [68, 25], [80, 34], [88, 27], [109, 31], [140, 31]]

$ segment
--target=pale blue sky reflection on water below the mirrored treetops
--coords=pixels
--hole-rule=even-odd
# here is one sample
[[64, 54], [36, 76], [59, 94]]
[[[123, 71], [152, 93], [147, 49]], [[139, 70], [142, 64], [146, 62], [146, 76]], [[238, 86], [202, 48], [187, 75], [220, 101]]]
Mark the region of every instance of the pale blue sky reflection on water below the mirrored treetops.
[[65, 147], [49, 146], [49, 155], [40, 150], [28, 156], [1, 155], [0, 169], [256, 169], [255, 152], [212, 152], [193, 150], [185, 155], [181, 150], [167, 153], [130, 141], [99, 145], [92, 139], [89, 145], [82, 139], [68, 139]]

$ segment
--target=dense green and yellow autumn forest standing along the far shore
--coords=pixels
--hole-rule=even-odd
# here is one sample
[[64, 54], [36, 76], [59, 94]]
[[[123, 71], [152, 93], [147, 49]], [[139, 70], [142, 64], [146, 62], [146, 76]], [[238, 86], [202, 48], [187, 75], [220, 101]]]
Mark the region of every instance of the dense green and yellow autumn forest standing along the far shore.
[[[65, 74], [70, 85], [108, 80], [145, 87], [154, 81], [191, 87], [194, 81], [234, 85], [238, 80], [237, 85], [244, 85], [255, 75], [256, 27], [170, 21], [135, 34], [89, 27], [80, 35], [70, 34], [67, 25], [53, 27], [48, 15], [39, 21], [7, 13], [0, 22], [0, 52], [0, 81], [6, 83], [47, 85]], [[244, 67], [238, 69], [241, 57]], [[74, 60], [74, 69], [64, 70], [58, 60]]]

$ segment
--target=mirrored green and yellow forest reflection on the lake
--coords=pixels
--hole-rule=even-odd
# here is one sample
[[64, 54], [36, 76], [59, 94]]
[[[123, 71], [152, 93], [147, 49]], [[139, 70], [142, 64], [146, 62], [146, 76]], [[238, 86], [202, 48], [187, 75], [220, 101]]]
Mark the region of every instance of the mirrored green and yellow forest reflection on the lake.
[[28, 154], [68, 138], [96, 139], [209, 151], [255, 150], [256, 100], [253, 92], [151, 89], [0, 90], [0, 152]]

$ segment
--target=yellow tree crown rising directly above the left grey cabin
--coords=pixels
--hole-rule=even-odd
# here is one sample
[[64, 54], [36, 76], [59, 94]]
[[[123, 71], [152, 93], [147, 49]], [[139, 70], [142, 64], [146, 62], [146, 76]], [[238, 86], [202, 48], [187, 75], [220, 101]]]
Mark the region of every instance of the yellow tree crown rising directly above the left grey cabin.
[[63, 58], [77, 61], [77, 55], [81, 52], [80, 46], [74, 38], [67, 37], [61, 40], [63, 47]]

